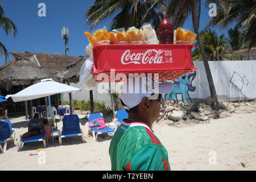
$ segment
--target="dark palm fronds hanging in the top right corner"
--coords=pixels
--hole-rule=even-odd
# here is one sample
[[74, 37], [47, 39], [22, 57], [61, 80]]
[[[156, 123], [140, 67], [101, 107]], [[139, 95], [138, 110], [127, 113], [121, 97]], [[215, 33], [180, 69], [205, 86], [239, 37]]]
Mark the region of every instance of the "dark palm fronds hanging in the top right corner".
[[247, 27], [245, 41], [249, 43], [248, 55], [251, 60], [250, 49], [256, 42], [256, 1], [207, 0], [207, 2], [214, 2], [218, 7], [217, 16], [210, 20], [207, 27], [217, 25], [224, 28], [233, 22]]

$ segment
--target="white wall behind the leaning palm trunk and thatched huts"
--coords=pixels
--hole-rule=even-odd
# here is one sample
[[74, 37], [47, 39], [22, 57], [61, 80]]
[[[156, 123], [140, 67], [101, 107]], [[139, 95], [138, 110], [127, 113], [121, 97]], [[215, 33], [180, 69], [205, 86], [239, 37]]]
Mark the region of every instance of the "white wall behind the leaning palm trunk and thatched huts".
[[[192, 101], [210, 98], [209, 85], [204, 69], [203, 61], [193, 61], [197, 68], [196, 76], [192, 81], [195, 91], [188, 91]], [[238, 101], [256, 99], [256, 61], [209, 61], [210, 70], [219, 101]], [[181, 79], [182, 80], [182, 79]], [[173, 81], [172, 81], [173, 82]], [[78, 84], [72, 84], [81, 88]], [[74, 99], [88, 100], [89, 91], [81, 88], [81, 92], [72, 94]], [[184, 90], [183, 90], [184, 91]], [[182, 94], [177, 94], [177, 99], [182, 99]], [[99, 94], [96, 88], [93, 90], [94, 101], [104, 101], [111, 106], [109, 94]], [[64, 100], [69, 100], [68, 94], [64, 94]]]

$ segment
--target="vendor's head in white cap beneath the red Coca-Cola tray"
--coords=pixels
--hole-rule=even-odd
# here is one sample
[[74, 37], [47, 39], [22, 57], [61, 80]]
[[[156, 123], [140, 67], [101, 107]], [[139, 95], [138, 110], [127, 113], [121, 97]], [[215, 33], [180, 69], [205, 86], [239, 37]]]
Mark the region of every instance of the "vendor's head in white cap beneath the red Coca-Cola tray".
[[171, 90], [171, 82], [158, 83], [151, 78], [132, 77], [122, 86], [121, 103], [129, 119], [139, 119], [152, 126], [159, 117], [163, 94]]

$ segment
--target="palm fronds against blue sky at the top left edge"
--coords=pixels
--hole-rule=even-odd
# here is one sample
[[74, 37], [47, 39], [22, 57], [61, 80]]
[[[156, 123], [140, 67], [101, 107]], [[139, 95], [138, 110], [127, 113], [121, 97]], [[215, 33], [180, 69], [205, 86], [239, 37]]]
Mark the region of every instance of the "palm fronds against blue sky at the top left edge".
[[[0, 3], [0, 27], [6, 32], [6, 35], [11, 33], [14, 37], [17, 33], [17, 29], [13, 21], [5, 16], [5, 11], [2, 3]], [[0, 42], [0, 54], [5, 57], [5, 63], [8, 57], [8, 51], [6, 47]]]

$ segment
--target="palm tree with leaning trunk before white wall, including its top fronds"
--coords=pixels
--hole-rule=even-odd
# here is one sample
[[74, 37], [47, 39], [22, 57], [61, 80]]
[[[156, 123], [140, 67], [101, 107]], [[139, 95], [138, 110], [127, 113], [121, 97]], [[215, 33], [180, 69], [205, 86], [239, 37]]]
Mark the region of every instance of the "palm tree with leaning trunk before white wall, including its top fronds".
[[174, 28], [180, 27], [188, 18], [188, 15], [192, 13], [193, 28], [195, 33], [198, 35], [196, 39], [201, 57], [203, 58], [205, 72], [207, 73], [206, 75], [209, 84], [212, 108], [218, 110], [220, 109], [220, 104], [214, 87], [212, 73], [210, 72], [207, 55], [199, 34], [200, 9], [201, 1], [198, 0], [171, 0], [170, 3], [168, 3], [167, 13], [173, 18]]

